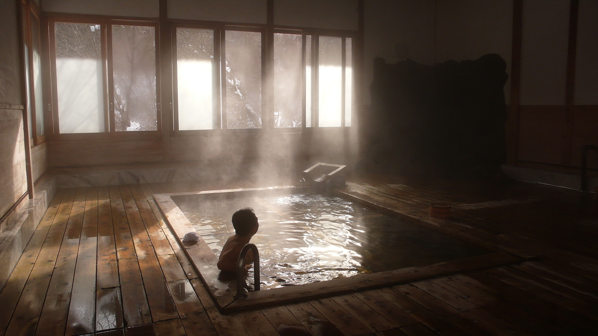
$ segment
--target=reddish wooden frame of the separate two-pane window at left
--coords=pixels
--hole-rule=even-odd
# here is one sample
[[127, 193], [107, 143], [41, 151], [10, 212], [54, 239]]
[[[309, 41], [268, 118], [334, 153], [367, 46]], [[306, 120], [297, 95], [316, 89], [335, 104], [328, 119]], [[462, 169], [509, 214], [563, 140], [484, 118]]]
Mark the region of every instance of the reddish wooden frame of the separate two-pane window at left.
[[[56, 32], [55, 23], [81, 23], [101, 26], [102, 88], [104, 102], [104, 132], [97, 133], [60, 133], [58, 91], [56, 74]], [[112, 25], [154, 27], [155, 34], [155, 93], [156, 93], [156, 130], [116, 131], [114, 119], [114, 72], [112, 71]], [[48, 29], [48, 54], [50, 59], [51, 80], [51, 117], [53, 132], [51, 138], [63, 139], [120, 139], [120, 138], [157, 138], [161, 136], [161, 86], [160, 86], [160, 26], [158, 20], [133, 19], [121, 17], [96, 16], [47, 16], [44, 27]]]

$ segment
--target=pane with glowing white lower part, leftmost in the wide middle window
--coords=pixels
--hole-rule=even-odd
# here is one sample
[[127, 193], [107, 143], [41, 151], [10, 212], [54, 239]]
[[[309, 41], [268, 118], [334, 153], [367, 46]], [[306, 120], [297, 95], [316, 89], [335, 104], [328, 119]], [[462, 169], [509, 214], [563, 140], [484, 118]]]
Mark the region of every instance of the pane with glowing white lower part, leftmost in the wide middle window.
[[214, 129], [214, 31], [176, 29], [179, 130]]

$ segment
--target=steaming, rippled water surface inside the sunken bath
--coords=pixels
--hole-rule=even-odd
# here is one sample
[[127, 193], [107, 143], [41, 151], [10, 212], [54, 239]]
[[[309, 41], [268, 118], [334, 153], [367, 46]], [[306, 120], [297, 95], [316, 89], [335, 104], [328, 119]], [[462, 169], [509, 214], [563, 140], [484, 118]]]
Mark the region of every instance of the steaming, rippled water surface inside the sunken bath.
[[[230, 217], [252, 207], [260, 230], [263, 288], [331, 280], [489, 253], [422, 225], [319, 194], [173, 196], [216, 255], [234, 234]], [[249, 279], [253, 279], [249, 274]]]

